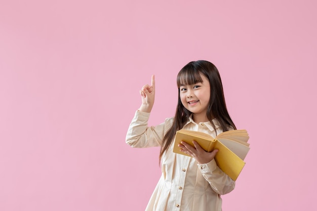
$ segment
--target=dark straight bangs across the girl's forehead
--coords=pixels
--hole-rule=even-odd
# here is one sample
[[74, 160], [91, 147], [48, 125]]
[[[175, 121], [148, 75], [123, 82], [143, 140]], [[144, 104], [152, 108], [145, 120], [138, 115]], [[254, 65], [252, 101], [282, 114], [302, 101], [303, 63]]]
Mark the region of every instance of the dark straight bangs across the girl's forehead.
[[177, 75], [177, 87], [203, 82], [201, 72], [186, 66]]

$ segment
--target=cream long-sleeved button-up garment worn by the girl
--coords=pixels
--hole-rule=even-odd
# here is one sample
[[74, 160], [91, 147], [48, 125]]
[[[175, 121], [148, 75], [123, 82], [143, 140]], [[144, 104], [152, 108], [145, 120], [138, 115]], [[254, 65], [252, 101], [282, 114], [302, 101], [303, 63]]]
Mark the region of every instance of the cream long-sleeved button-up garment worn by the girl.
[[[136, 111], [129, 126], [126, 142], [132, 147], [160, 147], [173, 118], [148, 126], [150, 113]], [[217, 120], [217, 134], [222, 132]], [[183, 129], [216, 136], [210, 122], [195, 123], [191, 118]], [[234, 189], [234, 181], [224, 174], [215, 160], [197, 164], [194, 158], [173, 152], [173, 144], [162, 156], [162, 176], [148, 202], [146, 211], [220, 211], [220, 195]]]

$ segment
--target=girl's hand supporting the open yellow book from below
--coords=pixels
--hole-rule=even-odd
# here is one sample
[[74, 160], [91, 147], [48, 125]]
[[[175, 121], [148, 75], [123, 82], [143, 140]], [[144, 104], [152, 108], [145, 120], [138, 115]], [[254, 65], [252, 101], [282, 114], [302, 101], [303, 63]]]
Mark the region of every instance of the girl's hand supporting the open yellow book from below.
[[212, 159], [214, 159], [218, 152], [218, 149], [215, 149], [212, 152], [206, 152], [197, 142], [193, 141], [192, 143], [195, 147], [192, 147], [183, 141], [178, 146], [181, 148], [181, 152], [184, 152], [195, 158], [199, 164], [209, 163]]

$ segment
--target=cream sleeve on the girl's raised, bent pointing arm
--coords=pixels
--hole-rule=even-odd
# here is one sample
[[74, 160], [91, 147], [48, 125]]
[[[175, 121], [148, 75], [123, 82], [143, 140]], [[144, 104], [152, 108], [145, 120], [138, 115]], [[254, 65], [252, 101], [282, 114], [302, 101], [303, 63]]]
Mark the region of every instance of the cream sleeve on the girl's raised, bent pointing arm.
[[135, 112], [127, 132], [127, 144], [137, 148], [161, 146], [162, 139], [172, 125], [173, 118], [167, 118], [164, 123], [156, 126], [148, 126], [149, 116], [150, 113]]

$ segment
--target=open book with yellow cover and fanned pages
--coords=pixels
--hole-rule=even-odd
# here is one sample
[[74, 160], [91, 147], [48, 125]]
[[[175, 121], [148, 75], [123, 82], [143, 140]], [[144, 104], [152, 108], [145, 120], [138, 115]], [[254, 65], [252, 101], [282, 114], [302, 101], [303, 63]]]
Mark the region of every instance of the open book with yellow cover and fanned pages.
[[180, 151], [178, 145], [181, 141], [191, 146], [194, 146], [192, 141], [196, 141], [207, 152], [218, 149], [219, 151], [215, 156], [217, 165], [235, 181], [246, 164], [244, 159], [250, 150], [248, 140], [249, 135], [246, 130], [226, 131], [213, 138], [203, 132], [182, 129], [176, 132], [173, 152], [189, 156]]

